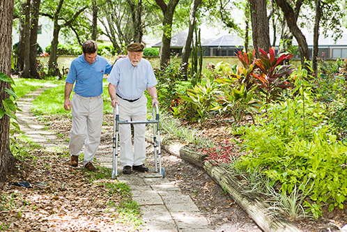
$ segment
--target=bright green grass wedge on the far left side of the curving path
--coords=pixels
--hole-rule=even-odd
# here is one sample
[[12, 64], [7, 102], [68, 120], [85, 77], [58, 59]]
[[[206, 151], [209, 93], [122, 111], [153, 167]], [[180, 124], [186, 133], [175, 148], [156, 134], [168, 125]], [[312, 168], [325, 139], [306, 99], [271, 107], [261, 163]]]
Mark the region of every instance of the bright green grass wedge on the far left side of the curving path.
[[43, 80], [43, 79], [26, 79], [26, 78], [15, 78], [15, 94], [18, 98], [22, 98], [26, 93], [36, 91], [36, 89], [45, 86], [46, 84], [63, 84], [63, 81], [57, 80]]

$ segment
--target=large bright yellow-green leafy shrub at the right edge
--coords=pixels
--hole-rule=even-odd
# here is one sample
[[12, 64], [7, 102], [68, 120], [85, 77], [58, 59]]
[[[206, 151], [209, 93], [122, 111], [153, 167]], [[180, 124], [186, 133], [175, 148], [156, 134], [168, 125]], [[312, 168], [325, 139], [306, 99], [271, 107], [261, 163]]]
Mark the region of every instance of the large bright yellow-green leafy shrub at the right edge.
[[308, 183], [302, 192], [311, 199], [304, 201], [307, 212], [322, 215], [322, 206], [343, 208], [347, 196], [347, 146], [336, 140], [330, 127], [323, 125], [324, 107], [302, 100], [287, 100], [268, 109], [259, 125], [245, 128], [244, 145], [248, 154], [242, 157], [247, 169], [259, 169], [265, 176], [281, 183], [282, 193]]

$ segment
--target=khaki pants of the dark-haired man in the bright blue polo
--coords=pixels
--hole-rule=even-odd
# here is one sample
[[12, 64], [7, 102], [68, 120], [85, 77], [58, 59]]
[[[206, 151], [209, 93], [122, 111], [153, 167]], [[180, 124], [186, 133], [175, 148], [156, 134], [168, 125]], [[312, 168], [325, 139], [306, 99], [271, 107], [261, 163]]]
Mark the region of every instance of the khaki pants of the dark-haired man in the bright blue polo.
[[72, 129], [69, 150], [71, 155], [81, 155], [84, 144], [84, 161], [93, 162], [99, 148], [102, 128], [102, 97], [84, 98], [74, 93], [72, 104]]

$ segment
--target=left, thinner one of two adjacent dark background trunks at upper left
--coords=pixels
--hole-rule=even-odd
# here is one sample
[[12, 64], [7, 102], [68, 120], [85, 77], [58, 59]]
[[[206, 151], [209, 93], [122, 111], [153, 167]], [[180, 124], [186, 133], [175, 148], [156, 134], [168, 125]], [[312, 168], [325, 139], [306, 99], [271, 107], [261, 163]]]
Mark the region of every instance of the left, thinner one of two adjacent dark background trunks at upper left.
[[26, 0], [25, 23], [24, 23], [24, 65], [22, 77], [30, 77], [30, 0]]

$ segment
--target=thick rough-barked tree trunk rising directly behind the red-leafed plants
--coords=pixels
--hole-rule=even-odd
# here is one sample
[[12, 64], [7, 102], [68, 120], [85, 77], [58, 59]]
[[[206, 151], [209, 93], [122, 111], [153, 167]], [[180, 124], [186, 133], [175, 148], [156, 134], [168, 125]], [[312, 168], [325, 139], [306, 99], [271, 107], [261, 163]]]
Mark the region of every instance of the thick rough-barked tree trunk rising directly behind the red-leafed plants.
[[269, 20], [266, 14], [266, 0], [249, 0], [251, 8], [253, 47], [256, 57], [259, 57], [259, 48], [269, 52]]

